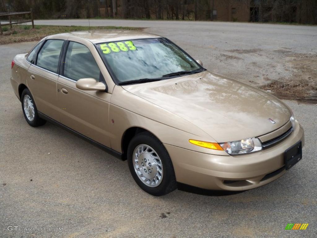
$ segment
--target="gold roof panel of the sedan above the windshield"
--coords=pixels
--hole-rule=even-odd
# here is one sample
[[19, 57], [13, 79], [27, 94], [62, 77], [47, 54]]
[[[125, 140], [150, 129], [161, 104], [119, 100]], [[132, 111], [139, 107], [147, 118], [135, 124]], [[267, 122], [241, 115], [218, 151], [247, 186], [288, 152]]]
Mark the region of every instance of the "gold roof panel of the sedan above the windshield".
[[138, 31], [138, 30], [88, 30], [88, 31], [75, 31], [69, 33], [61, 33], [55, 36], [75, 36], [87, 39], [92, 43], [103, 43], [111, 41], [135, 40], [146, 38], [162, 37], [151, 33]]

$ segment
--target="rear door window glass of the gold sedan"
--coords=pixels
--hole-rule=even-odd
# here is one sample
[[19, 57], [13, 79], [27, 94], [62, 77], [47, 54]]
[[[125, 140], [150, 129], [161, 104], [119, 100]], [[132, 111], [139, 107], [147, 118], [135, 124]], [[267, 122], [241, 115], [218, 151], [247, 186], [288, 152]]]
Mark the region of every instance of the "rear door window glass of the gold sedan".
[[37, 56], [36, 65], [57, 73], [59, 56], [63, 43], [63, 40], [46, 41]]

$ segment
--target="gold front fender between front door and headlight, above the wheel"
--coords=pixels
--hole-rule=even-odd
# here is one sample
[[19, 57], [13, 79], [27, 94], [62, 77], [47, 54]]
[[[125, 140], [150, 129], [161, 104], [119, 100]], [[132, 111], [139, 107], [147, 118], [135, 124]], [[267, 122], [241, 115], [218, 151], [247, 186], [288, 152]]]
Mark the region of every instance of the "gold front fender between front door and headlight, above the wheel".
[[[151, 118], [152, 117], [152, 118]], [[127, 129], [139, 127], [151, 132], [162, 143], [206, 154], [228, 155], [189, 143], [189, 139], [215, 142], [207, 133], [183, 118], [135, 96], [120, 86], [115, 87], [109, 107], [111, 148], [122, 152], [122, 136]]]

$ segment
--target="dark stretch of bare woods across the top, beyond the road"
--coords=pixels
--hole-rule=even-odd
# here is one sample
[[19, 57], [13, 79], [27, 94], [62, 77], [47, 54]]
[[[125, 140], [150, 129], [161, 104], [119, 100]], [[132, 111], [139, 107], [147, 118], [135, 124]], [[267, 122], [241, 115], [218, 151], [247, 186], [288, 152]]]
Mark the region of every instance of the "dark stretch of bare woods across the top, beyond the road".
[[[0, 0], [14, 11], [34, 10], [34, 17], [86, 18], [100, 16], [100, 0]], [[104, 0], [106, 17], [182, 20], [217, 20], [215, 6], [231, 10], [231, 4], [247, 6], [250, 21], [317, 23], [317, 0]], [[118, 4], [121, 5], [119, 6]], [[110, 6], [110, 11], [108, 7]], [[117, 7], [120, 7], [118, 15]], [[240, 8], [241, 9], [241, 8]], [[244, 8], [245, 9], [245, 8]], [[219, 10], [218, 10], [219, 12]], [[118, 16], [117, 16], [118, 15]], [[218, 17], [218, 19], [220, 19]]]

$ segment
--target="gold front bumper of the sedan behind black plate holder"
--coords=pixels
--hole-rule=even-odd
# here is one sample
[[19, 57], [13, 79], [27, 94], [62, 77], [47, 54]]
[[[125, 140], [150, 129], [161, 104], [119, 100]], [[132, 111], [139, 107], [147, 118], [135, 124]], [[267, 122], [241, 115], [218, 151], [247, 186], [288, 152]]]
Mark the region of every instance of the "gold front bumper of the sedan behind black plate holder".
[[164, 145], [177, 182], [205, 189], [242, 191], [260, 187], [286, 173], [284, 151], [298, 141], [304, 146], [304, 131], [296, 121], [294, 131], [283, 141], [247, 155], [210, 155]]

